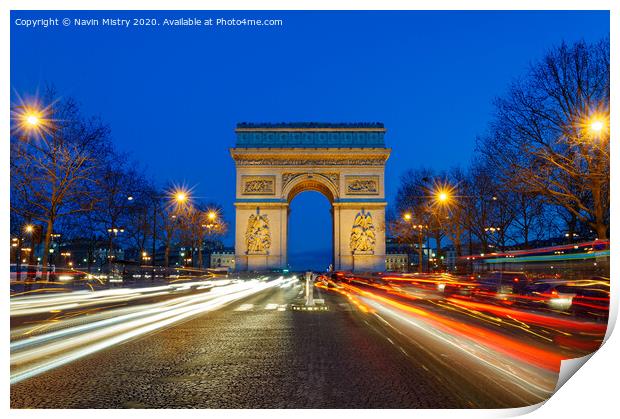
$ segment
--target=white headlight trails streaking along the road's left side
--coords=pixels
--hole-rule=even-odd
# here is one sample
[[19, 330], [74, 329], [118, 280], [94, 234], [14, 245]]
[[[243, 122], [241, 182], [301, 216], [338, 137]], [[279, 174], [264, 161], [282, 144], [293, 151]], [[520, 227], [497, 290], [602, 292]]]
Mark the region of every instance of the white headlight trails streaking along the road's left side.
[[[94, 316], [76, 316], [60, 320], [60, 326], [65, 326], [60, 330], [11, 343], [11, 384], [290, 281], [291, 279], [278, 278], [272, 281], [229, 282], [198, 295], [184, 295], [164, 302], [104, 310]], [[200, 286], [204, 286], [204, 283], [201, 284]], [[115, 291], [112, 293], [98, 292], [102, 292], [104, 300], [109, 302], [107, 300], [110, 294], [131, 299], [136, 292], [151, 294], [151, 290], [161, 292], [165, 288], [168, 287], [124, 291], [106, 290]], [[83, 294], [62, 296], [60, 299], [82, 301], [87, 305], [93, 302], [92, 296]], [[94, 300], [101, 301], [99, 298], [94, 298]], [[75, 304], [80, 305], [77, 301]], [[35, 310], [37, 313], [42, 307], [47, 307], [49, 310], [51, 307], [57, 307], [58, 303], [54, 298], [43, 297], [38, 302], [41, 305]], [[21, 307], [22, 303], [16, 302], [15, 305]], [[24, 315], [23, 309], [18, 310], [20, 315]], [[83, 321], [88, 323], [79, 324]]]

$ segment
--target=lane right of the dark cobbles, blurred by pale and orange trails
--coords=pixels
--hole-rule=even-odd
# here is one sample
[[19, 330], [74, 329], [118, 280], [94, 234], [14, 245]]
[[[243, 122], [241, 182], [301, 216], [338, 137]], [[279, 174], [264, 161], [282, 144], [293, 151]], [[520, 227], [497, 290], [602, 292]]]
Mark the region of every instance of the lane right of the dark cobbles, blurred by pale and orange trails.
[[[366, 318], [380, 320], [378, 327], [376, 322], [368, 324], [374, 324], [377, 333], [409, 358], [410, 364], [441, 382], [444, 389], [438, 394], [444, 397], [452, 395], [471, 407], [519, 407], [547, 399], [555, 388], [557, 371], [514, 356], [512, 346], [518, 340], [501, 340], [485, 331], [474, 340], [457, 328], [446, 329], [431, 313], [342, 289], [330, 290], [353, 299], [367, 313]], [[502, 345], [509, 345], [510, 351]], [[533, 346], [523, 347], [528, 354], [540, 352]]]

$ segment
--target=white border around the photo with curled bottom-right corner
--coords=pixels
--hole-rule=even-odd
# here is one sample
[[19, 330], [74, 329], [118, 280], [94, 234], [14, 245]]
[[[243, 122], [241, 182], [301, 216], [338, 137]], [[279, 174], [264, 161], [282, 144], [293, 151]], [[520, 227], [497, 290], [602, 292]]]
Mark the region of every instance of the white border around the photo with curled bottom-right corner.
[[[611, 74], [612, 74], [612, 106], [611, 106], [611, 121], [619, 121], [618, 108], [617, 108], [617, 93], [618, 88], [615, 81], [617, 77], [614, 77], [614, 73], [618, 73], [618, 56], [617, 50], [614, 48], [617, 46], [618, 31], [620, 30], [620, 19], [618, 18], [620, 10], [620, 2], [610, 0], [503, 0], [499, 1], [484, 1], [484, 0], [427, 0], [427, 1], [394, 1], [394, 0], [382, 0], [381, 2], [369, 1], [369, 0], [298, 0], [298, 1], [275, 1], [275, 0], [263, 0], [263, 1], [242, 1], [242, 0], [229, 0], [229, 1], [203, 1], [198, 2], [196, 0], [150, 0], [150, 1], [131, 1], [131, 0], [90, 0], [88, 2], [84, 0], [55, 0], [53, 3], [44, 0], [4, 0], [0, 2], [1, 20], [0, 20], [0, 57], [4, 58], [0, 62], [1, 65], [0, 77], [2, 78], [2, 92], [3, 100], [0, 102], [0, 114], [5, 115], [2, 118], [2, 128], [5, 133], [4, 138], [8, 138], [8, 115], [10, 106], [10, 77], [9, 77], [9, 30], [10, 19], [9, 13], [11, 9], [15, 10], [611, 10]], [[524, 28], [524, 30], [527, 30]], [[615, 130], [615, 123], [612, 123]], [[612, 148], [612, 232], [611, 241], [616, 242], [618, 233], [613, 229], [615, 221], [617, 220], [615, 205], [615, 197], [619, 195], [619, 181], [615, 176], [615, 167], [618, 156], [618, 146], [615, 142], [611, 143]], [[2, 193], [4, 197], [9, 195], [9, 153], [8, 153], [8, 141], [4, 143], [3, 152], [0, 153], [0, 165], [2, 166]], [[0, 224], [0, 237], [9, 237], [9, 211], [8, 202], [5, 200], [5, 211], [2, 213], [2, 223]], [[8, 243], [8, 241], [7, 241]], [[8, 252], [2, 253], [3, 261], [0, 266], [8, 266]], [[615, 286], [618, 281], [618, 268], [615, 263], [615, 252], [612, 253], [611, 264], [611, 277], [612, 277], [612, 307], [610, 318], [615, 319], [618, 312], [618, 290]], [[8, 293], [5, 296], [5, 303], [7, 303]], [[9, 336], [8, 333], [8, 319], [9, 311], [8, 304], [1, 305], [3, 323], [3, 336]], [[610, 320], [611, 323], [611, 320]], [[582, 368], [573, 379], [568, 380], [556, 395], [554, 395], [544, 406], [536, 412], [531, 414], [531, 417], [543, 418], [588, 418], [588, 417], [608, 417], [614, 415], [612, 412], [617, 412], [617, 377], [620, 372], [618, 357], [620, 356], [620, 343], [616, 334], [609, 336], [608, 340], [603, 347], [595, 353], [588, 361], [588, 367]], [[39, 415], [45, 415], [47, 417], [81, 417], [86, 412], [79, 410], [45, 410], [45, 411], [27, 411], [27, 410], [12, 410], [9, 411], [9, 345], [6, 344], [4, 349], [4, 362], [2, 363], [2, 376], [6, 377], [6, 381], [3, 382], [2, 387], [2, 407], [3, 411], [8, 412], [11, 416], [15, 417], [35, 417]], [[262, 410], [262, 411], [240, 411], [240, 410], [210, 410], [208, 412], [194, 412], [194, 411], [174, 411], [175, 414], [186, 417], [195, 417], [196, 414], [203, 415], [208, 414], [212, 417], [226, 416], [251, 416], [251, 417], [289, 417], [295, 415], [299, 418], [310, 418], [316, 416], [341, 416], [347, 414], [370, 416], [378, 414], [389, 414], [395, 417], [410, 417], [415, 415], [416, 417], [458, 417], [458, 418], [478, 418], [478, 417], [502, 417], [502, 416], [514, 416], [517, 414], [526, 413], [531, 411], [530, 409], [516, 409], [516, 410], [390, 410], [387, 412], [376, 412], [374, 410], [368, 411], [325, 411], [325, 410], [298, 410], [298, 411], [283, 411], [283, 410]], [[88, 411], [89, 416], [93, 418], [104, 417], [109, 413], [103, 410], [100, 411]], [[169, 410], [149, 410], [149, 411], [119, 411], [115, 412], [115, 415], [132, 415], [139, 416], [159, 416], [167, 417], [171, 414]]]

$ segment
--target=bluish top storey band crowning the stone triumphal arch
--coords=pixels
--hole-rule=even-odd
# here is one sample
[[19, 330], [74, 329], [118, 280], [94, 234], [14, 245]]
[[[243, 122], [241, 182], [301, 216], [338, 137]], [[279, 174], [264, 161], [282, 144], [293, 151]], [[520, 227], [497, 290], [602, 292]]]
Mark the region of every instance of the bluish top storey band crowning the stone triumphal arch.
[[384, 148], [381, 122], [240, 122], [238, 148]]

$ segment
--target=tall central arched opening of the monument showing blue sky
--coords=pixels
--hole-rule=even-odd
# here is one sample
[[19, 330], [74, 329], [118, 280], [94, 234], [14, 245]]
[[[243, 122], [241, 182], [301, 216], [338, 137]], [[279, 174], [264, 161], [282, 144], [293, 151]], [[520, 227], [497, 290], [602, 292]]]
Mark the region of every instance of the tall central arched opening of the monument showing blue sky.
[[292, 271], [325, 271], [333, 263], [331, 202], [317, 190], [292, 196], [288, 214], [288, 265]]

